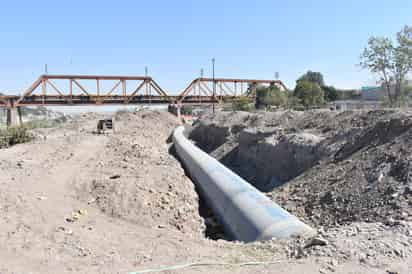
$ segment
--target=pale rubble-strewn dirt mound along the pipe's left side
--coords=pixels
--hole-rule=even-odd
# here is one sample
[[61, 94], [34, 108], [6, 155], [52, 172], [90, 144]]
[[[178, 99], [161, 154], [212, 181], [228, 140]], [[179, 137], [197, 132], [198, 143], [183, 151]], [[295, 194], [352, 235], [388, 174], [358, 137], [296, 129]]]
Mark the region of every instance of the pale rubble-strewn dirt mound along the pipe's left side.
[[167, 139], [178, 124], [166, 112], [117, 114], [95, 176], [78, 186], [79, 195], [111, 217], [201, 233], [194, 186], [168, 153]]

